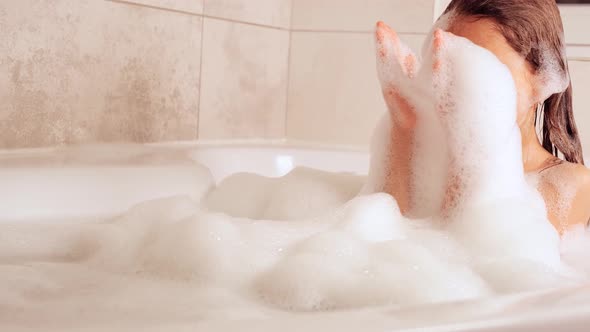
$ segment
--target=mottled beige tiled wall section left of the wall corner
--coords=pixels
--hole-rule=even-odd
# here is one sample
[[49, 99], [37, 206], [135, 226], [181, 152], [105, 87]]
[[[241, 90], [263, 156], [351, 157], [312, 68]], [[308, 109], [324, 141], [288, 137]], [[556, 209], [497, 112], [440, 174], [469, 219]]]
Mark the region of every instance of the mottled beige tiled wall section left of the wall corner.
[[0, 148], [282, 138], [291, 0], [0, 2]]

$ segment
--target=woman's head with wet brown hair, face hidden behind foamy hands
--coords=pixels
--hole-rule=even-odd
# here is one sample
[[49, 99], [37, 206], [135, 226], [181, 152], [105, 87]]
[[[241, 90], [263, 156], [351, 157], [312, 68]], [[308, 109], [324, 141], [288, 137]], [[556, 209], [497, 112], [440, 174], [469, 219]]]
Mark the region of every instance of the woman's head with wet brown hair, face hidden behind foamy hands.
[[519, 125], [534, 122], [537, 105], [543, 105], [543, 147], [583, 163], [555, 0], [453, 0], [444, 17], [446, 30], [487, 48], [508, 66], [518, 89]]

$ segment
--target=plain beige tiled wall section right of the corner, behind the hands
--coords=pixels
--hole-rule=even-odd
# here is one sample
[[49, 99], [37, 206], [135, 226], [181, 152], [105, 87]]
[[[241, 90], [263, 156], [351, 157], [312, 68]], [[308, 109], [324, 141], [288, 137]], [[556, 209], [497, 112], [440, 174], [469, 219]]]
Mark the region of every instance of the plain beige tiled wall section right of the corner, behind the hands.
[[385, 108], [375, 68], [375, 23], [388, 22], [419, 50], [434, 4], [294, 0], [287, 137], [366, 146]]

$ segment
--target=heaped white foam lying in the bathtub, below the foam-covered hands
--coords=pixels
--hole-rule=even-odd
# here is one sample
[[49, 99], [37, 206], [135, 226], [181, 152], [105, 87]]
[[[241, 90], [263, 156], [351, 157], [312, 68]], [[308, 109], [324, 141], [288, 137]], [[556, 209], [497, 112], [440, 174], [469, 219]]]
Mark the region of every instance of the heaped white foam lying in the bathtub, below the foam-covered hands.
[[[147, 201], [98, 222], [2, 223], [0, 325], [127, 330], [318, 311], [329, 320], [331, 311], [400, 310], [587, 280], [583, 229], [566, 234], [561, 249], [536, 242], [539, 255], [524, 256], [510, 230], [406, 220], [387, 194], [355, 197], [364, 181], [310, 169], [279, 179], [236, 174], [200, 202]], [[256, 219], [265, 215], [274, 220]], [[526, 231], [535, 241], [536, 230]], [[375, 315], [394, 317], [390, 327], [436, 321], [396, 312]], [[457, 320], [456, 312], [437, 319]]]

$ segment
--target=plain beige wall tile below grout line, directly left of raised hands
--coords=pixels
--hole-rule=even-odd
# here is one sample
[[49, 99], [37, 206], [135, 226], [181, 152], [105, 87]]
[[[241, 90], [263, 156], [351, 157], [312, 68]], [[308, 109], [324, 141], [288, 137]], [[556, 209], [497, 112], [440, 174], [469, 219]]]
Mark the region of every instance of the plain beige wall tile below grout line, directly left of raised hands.
[[[402, 35], [413, 47], [423, 35]], [[293, 32], [287, 134], [321, 143], [368, 143], [385, 104], [372, 33]]]

